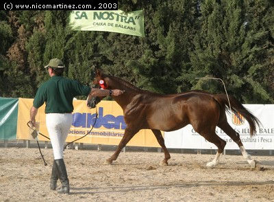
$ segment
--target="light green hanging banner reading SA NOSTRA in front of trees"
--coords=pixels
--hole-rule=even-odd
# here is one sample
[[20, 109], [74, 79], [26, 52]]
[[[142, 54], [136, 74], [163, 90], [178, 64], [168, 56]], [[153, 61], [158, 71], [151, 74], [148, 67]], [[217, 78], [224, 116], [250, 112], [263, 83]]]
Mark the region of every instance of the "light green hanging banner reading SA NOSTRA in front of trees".
[[73, 30], [145, 36], [143, 10], [129, 13], [122, 10], [75, 10], [71, 12], [70, 25]]

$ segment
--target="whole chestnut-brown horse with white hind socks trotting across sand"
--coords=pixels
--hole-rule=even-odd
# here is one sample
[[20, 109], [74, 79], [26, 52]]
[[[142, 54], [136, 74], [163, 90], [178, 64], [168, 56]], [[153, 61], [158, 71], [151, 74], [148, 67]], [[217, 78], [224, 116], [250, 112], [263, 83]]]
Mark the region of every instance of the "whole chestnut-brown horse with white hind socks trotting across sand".
[[[112, 161], [117, 159], [121, 150], [140, 129], [151, 129], [164, 151], [164, 160], [160, 164], [167, 166], [171, 155], [164, 144], [164, 138], [160, 131], [175, 131], [191, 124], [197, 133], [218, 148], [214, 159], [206, 164], [208, 168], [214, 168], [219, 164], [226, 144], [225, 140], [216, 135], [216, 126], [238, 144], [242, 156], [248, 164], [252, 168], [256, 167], [256, 160], [252, 159], [245, 150], [239, 133], [228, 124], [225, 111], [231, 107], [234, 113], [240, 113], [245, 117], [249, 123], [251, 136], [256, 132], [256, 125], [260, 126], [260, 120], [234, 96], [229, 96], [228, 99], [226, 94], [213, 94], [198, 90], [162, 95], [139, 89], [121, 78], [106, 75], [101, 70], [97, 70], [93, 85], [98, 85], [99, 81], [105, 84], [105, 89], [124, 91], [120, 96], [112, 96], [112, 98], [123, 109], [126, 123], [125, 133], [116, 151], [109, 159], [106, 159], [105, 164], [112, 164]], [[105, 97], [88, 96], [88, 107], [94, 108], [103, 98]]]

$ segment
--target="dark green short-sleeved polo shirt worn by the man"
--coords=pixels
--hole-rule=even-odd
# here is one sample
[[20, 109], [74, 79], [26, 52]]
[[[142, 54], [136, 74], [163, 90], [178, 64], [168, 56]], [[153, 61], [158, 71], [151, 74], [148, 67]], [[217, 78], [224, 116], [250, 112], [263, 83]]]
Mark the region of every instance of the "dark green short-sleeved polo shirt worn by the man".
[[39, 87], [34, 98], [34, 107], [38, 109], [46, 102], [45, 113], [71, 113], [73, 112], [73, 98], [88, 96], [90, 90], [90, 87], [76, 80], [52, 76]]

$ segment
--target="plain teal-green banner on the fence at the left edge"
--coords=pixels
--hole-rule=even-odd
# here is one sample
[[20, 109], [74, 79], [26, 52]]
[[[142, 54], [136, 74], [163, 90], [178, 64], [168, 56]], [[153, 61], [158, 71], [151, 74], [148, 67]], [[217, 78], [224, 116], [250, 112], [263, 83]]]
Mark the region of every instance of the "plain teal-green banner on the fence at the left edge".
[[0, 139], [16, 139], [18, 98], [0, 98]]

